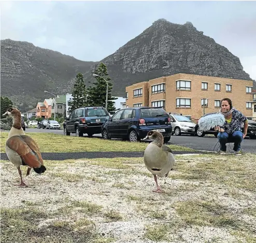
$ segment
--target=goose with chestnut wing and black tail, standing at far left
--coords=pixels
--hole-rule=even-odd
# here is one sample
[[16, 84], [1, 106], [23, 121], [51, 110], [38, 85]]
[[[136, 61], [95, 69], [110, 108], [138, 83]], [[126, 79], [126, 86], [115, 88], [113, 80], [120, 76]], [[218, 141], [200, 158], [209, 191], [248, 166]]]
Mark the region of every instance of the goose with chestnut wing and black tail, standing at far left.
[[41, 153], [36, 142], [25, 135], [21, 127], [21, 113], [16, 108], [9, 108], [3, 116], [12, 117], [12, 127], [6, 141], [6, 154], [9, 160], [17, 167], [20, 175], [20, 186], [26, 186], [22, 179], [21, 165], [29, 167], [26, 176], [30, 174], [31, 169], [38, 174], [44, 173], [46, 168], [42, 160]]

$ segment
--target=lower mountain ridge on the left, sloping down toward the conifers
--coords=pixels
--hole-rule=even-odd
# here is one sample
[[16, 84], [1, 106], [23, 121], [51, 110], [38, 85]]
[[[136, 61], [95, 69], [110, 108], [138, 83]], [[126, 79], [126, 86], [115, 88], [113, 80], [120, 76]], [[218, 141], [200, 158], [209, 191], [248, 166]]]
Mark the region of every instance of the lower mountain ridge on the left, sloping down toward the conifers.
[[35, 47], [32, 43], [1, 40], [1, 95], [16, 105], [34, 108], [44, 99], [44, 90], [65, 94], [78, 72], [90, 70], [94, 62]]

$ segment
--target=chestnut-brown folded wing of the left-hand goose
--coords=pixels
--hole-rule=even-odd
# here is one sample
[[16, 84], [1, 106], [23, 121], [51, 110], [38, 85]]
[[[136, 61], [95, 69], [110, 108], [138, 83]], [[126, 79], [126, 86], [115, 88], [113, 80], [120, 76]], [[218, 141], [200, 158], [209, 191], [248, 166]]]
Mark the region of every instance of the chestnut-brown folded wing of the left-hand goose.
[[41, 166], [38, 154], [24, 141], [22, 136], [12, 136], [7, 140], [6, 145], [13, 151], [16, 151], [26, 165], [32, 168], [39, 168]]

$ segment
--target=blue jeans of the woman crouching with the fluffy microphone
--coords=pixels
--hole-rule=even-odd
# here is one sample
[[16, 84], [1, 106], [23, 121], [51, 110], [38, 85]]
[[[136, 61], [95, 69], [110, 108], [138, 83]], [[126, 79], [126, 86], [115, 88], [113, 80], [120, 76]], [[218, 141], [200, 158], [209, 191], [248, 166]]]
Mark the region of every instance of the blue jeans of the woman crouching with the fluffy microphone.
[[241, 131], [235, 131], [233, 134], [227, 134], [226, 132], [219, 132], [217, 138], [220, 141], [221, 151], [226, 151], [226, 143], [234, 143], [234, 151], [241, 149], [241, 142], [243, 141], [243, 133]]

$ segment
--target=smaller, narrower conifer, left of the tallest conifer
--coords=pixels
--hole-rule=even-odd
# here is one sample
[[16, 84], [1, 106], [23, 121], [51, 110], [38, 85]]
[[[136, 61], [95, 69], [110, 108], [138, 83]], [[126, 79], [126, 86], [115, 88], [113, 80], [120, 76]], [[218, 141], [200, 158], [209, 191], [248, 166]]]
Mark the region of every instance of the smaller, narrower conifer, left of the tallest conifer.
[[86, 93], [86, 84], [83, 81], [83, 75], [81, 73], [78, 73], [76, 75], [76, 81], [72, 92], [73, 101], [71, 107], [69, 108], [69, 112], [72, 112], [79, 107], [84, 107], [87, 105]]

